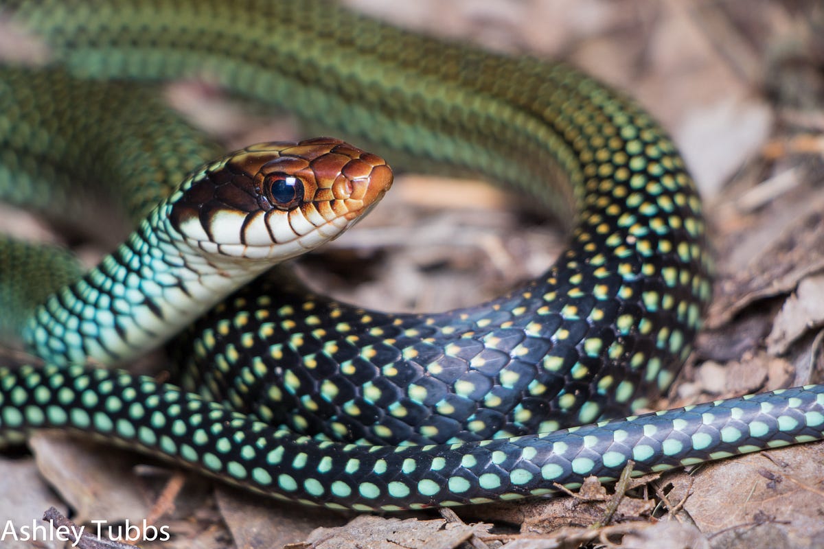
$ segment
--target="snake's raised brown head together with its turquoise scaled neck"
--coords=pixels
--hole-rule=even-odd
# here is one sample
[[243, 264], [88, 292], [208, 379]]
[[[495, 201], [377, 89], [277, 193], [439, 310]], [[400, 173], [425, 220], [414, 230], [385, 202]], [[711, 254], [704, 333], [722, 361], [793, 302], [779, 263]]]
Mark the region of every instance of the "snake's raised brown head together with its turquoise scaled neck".
[[[281, 202], [273, 189], [287, 179], [300, 191]], [[339, 235], [391, 181], [381, 158], [328, 137], [235, 151], [194, 170], [124, 244], [35, 308], [22, 340], [54, 364], [133, 358]]]

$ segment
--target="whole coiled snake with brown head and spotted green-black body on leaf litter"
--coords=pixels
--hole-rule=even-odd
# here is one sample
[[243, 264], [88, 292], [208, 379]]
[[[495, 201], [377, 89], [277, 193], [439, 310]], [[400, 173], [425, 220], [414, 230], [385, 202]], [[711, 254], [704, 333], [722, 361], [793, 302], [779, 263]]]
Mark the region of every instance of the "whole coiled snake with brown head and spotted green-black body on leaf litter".
[[[43, 258], [20, 245], [19, 264], [49, 266], [40, 291], [3, 268], [13, 279], [0, 285], [3, 299], [26, 294], [5, 322], [44, 363], [0, 370], [2, 441], [59, 428], [279, 500], [392, 511], [552, 495], [588, 476], [615, 481], [630, 461], [639, 476], [824, 438], [820, 384], [638, 415], [691, 354], [711, 299], [712, 259], [699, 195], [672, 140], [639, 105], [583, 72], [400, 30], [323, 0], [0, 6], [49, 50], [46, 76], [12, 68], [2, 80], [0, 98], [13, 99], [8, 90], [24, 83], [0, 129], [25, 128], [3, 130], [17, 147], [2, 152], [3, 194], [20, 203], [45, 197], [32, 207], [46, 209], [72, 203], [65, 185], [94, 175], [126, 212], [160, 204], [143, 221], [135, 216], [135, 232], [113, 254], [119, 261], [83, 274], [65, 254]], [[151, 82], [180, 77], [287, 109], [312, 131], [380, 151], [402, 170], [500, 184], [568, 222], [569, 247], [525, 285], [437, 314], [347, 305], [307, 291], [281, 268], [239, 277], [236, 291], [170, 282], [177, 290], [166, 309], [152, 297], [162, 282], [140, 261], [166, 262], [164, 249], [183, 245], [187, 228], [200, 251], [243, 248], [258, 238], [244, 236], [248, 220], [262, 215], [255, 208], [268, 207], [260, 189], [210, 202], [227, 174], [261, 178], [240, 174], [236, 156], [209, 161], [216, 146], [148, 96]], [[54, 91], [44, 99], [35, 93], [39, 79]], [[85, 97], [137, 97], [131, 105], [140, 107], [95, 110]], [[113, 111], [131, 129], [117, 129]], [[162, 121], [171, 134], [180, 130], [176, 137], [138, 135]], [[100, 148], [43, 137], [76, 135], [66, 129], [72, 124]], [[125, 157], [121, 141], [133, 145]], [[359, 219], [391, 184], [388, 168], [337, 140], [277, 147], [317, 146], [344, 147], [359, 177], [374, 172], [375, 200], [360, 204]], [[184, 160], [170, 160], [181, 151]], [[114, 167], [98, 165], [110, 156]], [[293, 160], [306, 168], [306, 158]], [[338, 181], [345, 170], [332, 164]], [[182, 186], [152, 187], [161, 172]], [[25, 184], [9, 183], [18, 176]], [[154, 190], [129, 182], [122, 185], [133, 191], [112, 190], [132, 176]], [[276, 179], [294, 177], [283, 170]], [[276, 194], [295, 207], [293, 195]], [[260, 234], [278, 240], [280, 230]], [[226, 245], [205, 244], [213, 236]], [[0, 258], [12, 257], [6, 249], [14, 246], [0, 246]], [[205, 263], [220, 272], [235, 261]], [[112, 293], [115, 279], [139, 291]], [[143, 298], [135, 314], [113, 306], [126, 293]], [[172, 313], [181, 296], [186, 314]], [[166, 317], [180, 327], [155, 324]], [[174, 384], [118, 367], [178, 328]], [[149, 333], [161, 337], [148, 343]]]

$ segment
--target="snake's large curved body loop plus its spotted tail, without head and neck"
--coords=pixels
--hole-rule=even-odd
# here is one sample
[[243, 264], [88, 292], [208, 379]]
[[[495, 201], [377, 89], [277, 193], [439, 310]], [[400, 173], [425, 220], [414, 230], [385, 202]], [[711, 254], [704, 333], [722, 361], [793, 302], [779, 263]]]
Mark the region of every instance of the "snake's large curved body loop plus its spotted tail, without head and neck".
[[77, 352], [35, 345], [55, 364], [2, 370], [7, 433], [92, 430], [275, 497], [361, 510], [542, 495], [615, 479], [630, 459], [640, 474], [822, 438], [819, 385], [559, 430], [668, 388], [711, 293], [681, 157], [592, 78], [327, 2], [7, 9], [75, 75], [206, 75], [410, 169], [480, 174], [574, 222], [543, 276], [442, 314], [368, 311], [260, 278], [176, 342], [185, 390], [63, 366]]

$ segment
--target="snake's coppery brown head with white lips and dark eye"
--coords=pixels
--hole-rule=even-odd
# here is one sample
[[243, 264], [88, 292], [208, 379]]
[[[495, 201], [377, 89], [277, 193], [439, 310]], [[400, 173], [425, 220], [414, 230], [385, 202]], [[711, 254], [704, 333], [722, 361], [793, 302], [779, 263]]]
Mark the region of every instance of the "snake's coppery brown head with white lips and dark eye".
[[386, 161], [339, 139], [265, 142], [199, 170], [168, 218], [210, 254], [280, 261], [339, 236], [391, 184]]

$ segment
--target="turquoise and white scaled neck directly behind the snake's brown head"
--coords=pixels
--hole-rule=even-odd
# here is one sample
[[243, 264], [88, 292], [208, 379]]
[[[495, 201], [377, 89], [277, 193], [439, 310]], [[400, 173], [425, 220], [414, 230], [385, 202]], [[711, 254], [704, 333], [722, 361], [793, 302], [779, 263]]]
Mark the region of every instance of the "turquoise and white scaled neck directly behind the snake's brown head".
[[21, 334], [29, 351], [59, 365], [128, 361], [271, 266], [204, 254], [177, 232], [166, 207], [162, 202], [96, 268], [35, 309]]

